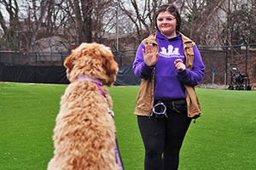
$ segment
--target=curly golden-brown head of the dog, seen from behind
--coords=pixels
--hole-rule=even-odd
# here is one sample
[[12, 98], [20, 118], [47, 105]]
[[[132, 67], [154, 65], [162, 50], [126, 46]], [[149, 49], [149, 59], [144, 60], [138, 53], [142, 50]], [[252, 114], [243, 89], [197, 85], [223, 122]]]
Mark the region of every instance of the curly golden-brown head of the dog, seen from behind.
[[100, 79], [108, 86], [115, 81], [119, 69], [110, 48], [96, 42], [81, 43], [65, 59], [64, 66], [67, 68], [67, 78], [70, 82], [86, 75]]

